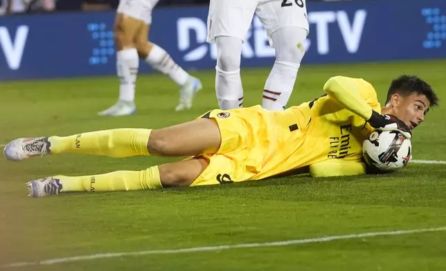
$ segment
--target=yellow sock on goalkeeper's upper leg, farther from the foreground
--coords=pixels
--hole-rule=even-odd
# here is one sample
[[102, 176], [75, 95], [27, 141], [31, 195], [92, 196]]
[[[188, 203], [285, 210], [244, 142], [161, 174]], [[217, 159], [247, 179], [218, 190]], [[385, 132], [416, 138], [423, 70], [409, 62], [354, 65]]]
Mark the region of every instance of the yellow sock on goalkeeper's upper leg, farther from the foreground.
[[73, 136], [51, 136], [51, 153], [87, 153], [123, 158], [148, 156], [151, 129], [111, 129], [79, 133]]

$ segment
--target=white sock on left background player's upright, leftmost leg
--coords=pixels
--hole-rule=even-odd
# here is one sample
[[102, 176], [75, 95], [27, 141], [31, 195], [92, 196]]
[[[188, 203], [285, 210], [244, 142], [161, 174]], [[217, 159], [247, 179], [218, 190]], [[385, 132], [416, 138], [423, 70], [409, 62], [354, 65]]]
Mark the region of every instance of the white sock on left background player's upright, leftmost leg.
[[120, 81], [119, 100], [134, 102], [138, 68], [139, 57], [136, 48], [127, 48], [116, 53], [116, 70]]

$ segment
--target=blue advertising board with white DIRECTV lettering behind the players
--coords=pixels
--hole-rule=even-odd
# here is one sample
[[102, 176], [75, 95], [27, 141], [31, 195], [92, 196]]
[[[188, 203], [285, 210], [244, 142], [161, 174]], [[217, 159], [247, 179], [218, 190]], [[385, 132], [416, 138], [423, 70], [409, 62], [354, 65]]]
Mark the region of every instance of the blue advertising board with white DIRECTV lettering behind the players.
[[[307, 3], [304, 64], [446, 57], [445, 0]], [[404, 11], [403, 11], [404, 10]], [[155, 8], [150, 40], [185, 69], [213, 68], [208, 8]], [[116, 74], [114, 12], [0, 17], [0, 80]], [[242, 67], [271, 66], [274, 49], [256, 17]], [[140, 65], [140, 72], [150, 72]]]

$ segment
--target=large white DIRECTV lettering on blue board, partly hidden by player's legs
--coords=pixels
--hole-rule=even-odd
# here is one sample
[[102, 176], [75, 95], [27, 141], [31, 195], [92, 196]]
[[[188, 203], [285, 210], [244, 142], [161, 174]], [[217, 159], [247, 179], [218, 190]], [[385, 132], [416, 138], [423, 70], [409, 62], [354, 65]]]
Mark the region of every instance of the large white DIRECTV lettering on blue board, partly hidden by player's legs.
[[[310, 39], [305, 41], [305, 50], [310, 50], [310, 46], [313, 46], [319, 55], [330, 53], [329, 29], [330, 24], [335, 24], [341, 32], [346, 51], [350, 54], [357, 53], [361, 44], [366, 17], [366, 10], [355, 10], [353, 19], [352, 16], [348, 16], [346, 10], [309, 12], [308, 21], [313, 25], [310, 28], [314, 28], [315, 35], [313, 35], [313, 41]], [[202, 19], [183, 17], [177, 20], [178, 48], [180, 52], [184, 52], [184, 61], [195, 62], [206, 56], [210, 56], [214, 60], [217, 59], [215, 44], [206, 44], [206, 38], [207, 26]], [[253, 18], [246, 40], [248, 42], [245, 42], [242, 47], [243, 58], [263, 58], [276, 55], [274, 48], [269, 46], [265, 28], [263, 28], [257, 16]]]

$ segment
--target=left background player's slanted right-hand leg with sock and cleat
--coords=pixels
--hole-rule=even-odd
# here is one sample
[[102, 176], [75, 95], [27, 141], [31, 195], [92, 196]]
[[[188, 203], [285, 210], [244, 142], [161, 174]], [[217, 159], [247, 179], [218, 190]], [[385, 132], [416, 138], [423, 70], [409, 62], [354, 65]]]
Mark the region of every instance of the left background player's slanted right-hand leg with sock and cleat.
[[148, 41], [149, 28], [150, 26], [145, 24], [136, 34], [135, 44], [139, 57], [157, 71], [168, 75], [180, 87], [179, 104], [175, 110], [190, 109], [193, 97], [202, 88], [202, 82], [178, 66], [166, 50]]

